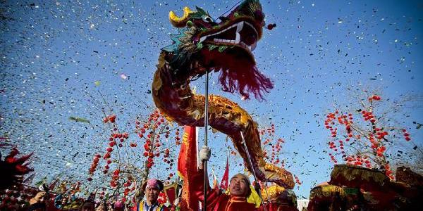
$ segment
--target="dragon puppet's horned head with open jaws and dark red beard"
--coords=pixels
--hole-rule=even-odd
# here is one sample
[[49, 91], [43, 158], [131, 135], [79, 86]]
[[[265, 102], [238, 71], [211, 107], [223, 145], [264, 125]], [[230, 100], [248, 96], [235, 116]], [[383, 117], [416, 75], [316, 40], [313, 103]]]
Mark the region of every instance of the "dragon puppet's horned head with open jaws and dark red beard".
[[238, 90], [243, 98], [252, 93], [260, 99], [262, 91], [273, 88], [270, 79], [257, 70], [252, 54], [264, 26], [258, 0], [243, 1], [228, 15], [219, 17], [219, 23], [199, 7], [196, 11], [185, 7], [182, 17], [171, 11], [169, 19], [180, 32], [172, 34], [173, 44], [162, 50], [171, 55], [176, 74], [192, 78], [221, 71], [223, 91]]

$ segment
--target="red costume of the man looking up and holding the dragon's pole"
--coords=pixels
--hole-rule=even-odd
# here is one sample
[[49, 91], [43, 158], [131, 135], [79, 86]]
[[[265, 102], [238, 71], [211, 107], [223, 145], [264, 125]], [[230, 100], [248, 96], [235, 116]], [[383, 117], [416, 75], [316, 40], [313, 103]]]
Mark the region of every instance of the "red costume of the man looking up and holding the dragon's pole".
[[[192, 189], [195, 196], [201, 202], [204, 201], [204, 171], [199, 170], [192, 177]], [[210, 188], [207, 184], [207, 211], [255, 211], [258, 210], [254, 204], [247, 203], [245, 197], [230, 196], [219, 191], [218, 188]]]

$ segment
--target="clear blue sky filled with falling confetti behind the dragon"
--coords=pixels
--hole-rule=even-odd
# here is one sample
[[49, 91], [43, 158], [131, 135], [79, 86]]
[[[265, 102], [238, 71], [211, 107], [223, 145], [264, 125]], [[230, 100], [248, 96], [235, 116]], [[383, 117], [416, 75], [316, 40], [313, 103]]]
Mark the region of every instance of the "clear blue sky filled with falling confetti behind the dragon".
[[[23, 153], [35, 151], [37, 177], [61, 173], [84, 179], [92, 158], [86, 153], [102, 151], [98, 135], [104, 131], [68, 117], [101, 125], [102, 96], [123, 124], [146, 115], [151, 109], [146, 107], [154, 106], [148, 90], [159, 51], [177, 32], [168, 11], [200, 6], [217, 18], [236, 2], [1, 2], [1, 14], [11, 18], [1, 20], [2, 136]], [[286, 140], [281, 158], [303, 181], [295, 188], [298, 196], [308, 197], [314, 184], [329, 179], [333, 164], [324, 153], [329, 136], [324, 113], [333, 110], [333, 102], [355, 105], [348, 88], [379, 89], [390, 99], [415, 96], [414, 107], [399, 119], [422, 146], [423, 134], [412, 123], [423, 123], [422, 2], [262, 1], [262, 6], [266, 23], [277, 26], [264, 30], [255, 58], [274, 89], [264, 102], [241, 101], [223, 93], [214, 74], [211, 93], [239, 103], [260, 125], [276, 124], [276, 135]], [[203, 82], [192, 83], [200, 93]], [[232, 144], [222, 134], [209, 143], [220, 178], [226, 146]], [[241, 162], [231, 159], [233, 166]], [[230, 174], [241, 170], [231, 168]]]

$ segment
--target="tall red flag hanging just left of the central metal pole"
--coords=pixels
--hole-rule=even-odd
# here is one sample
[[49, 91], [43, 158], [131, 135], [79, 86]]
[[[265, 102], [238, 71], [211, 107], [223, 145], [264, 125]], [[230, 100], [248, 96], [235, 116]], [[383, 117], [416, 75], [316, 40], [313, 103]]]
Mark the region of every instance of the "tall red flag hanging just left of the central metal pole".
[[200, 210], [198, 200], [190, 188], [190, 178], [197, 172], [197, 139], [195, 127], [185, 126], [178, 157], [178, 174], [183, 179], [180, 210]]

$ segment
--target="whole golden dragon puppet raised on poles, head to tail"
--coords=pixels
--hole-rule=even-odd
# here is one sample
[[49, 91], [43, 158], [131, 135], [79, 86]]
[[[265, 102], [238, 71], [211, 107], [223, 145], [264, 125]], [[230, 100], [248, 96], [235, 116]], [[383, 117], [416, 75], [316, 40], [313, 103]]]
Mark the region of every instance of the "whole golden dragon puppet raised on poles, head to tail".
[[[157, 108], [168, 120], [192, 127], [204, 127], [205, 97], [190, 89], [190, 81], [207, 72], [220, 72], [223, 91], [238, 91], [243, 98], [262, 99], [273, 88], [269, 78], [257, 69], [252, 51], [262, 37], [264, 13], [258, 0], [246, 0], [216, 23], [207, 12], [184, 8], [182, 17], [170, 12], [173, 44], [162, 49], [152, 84]], [[257, 179], [293, 188], [290, 172], [266, 163], [262, 153], [257, 123], [237, 103], [222, 96], [209, 96], [209, 125], [227, 134]], [[243, 146], [245, 137], [252, 166]]]

